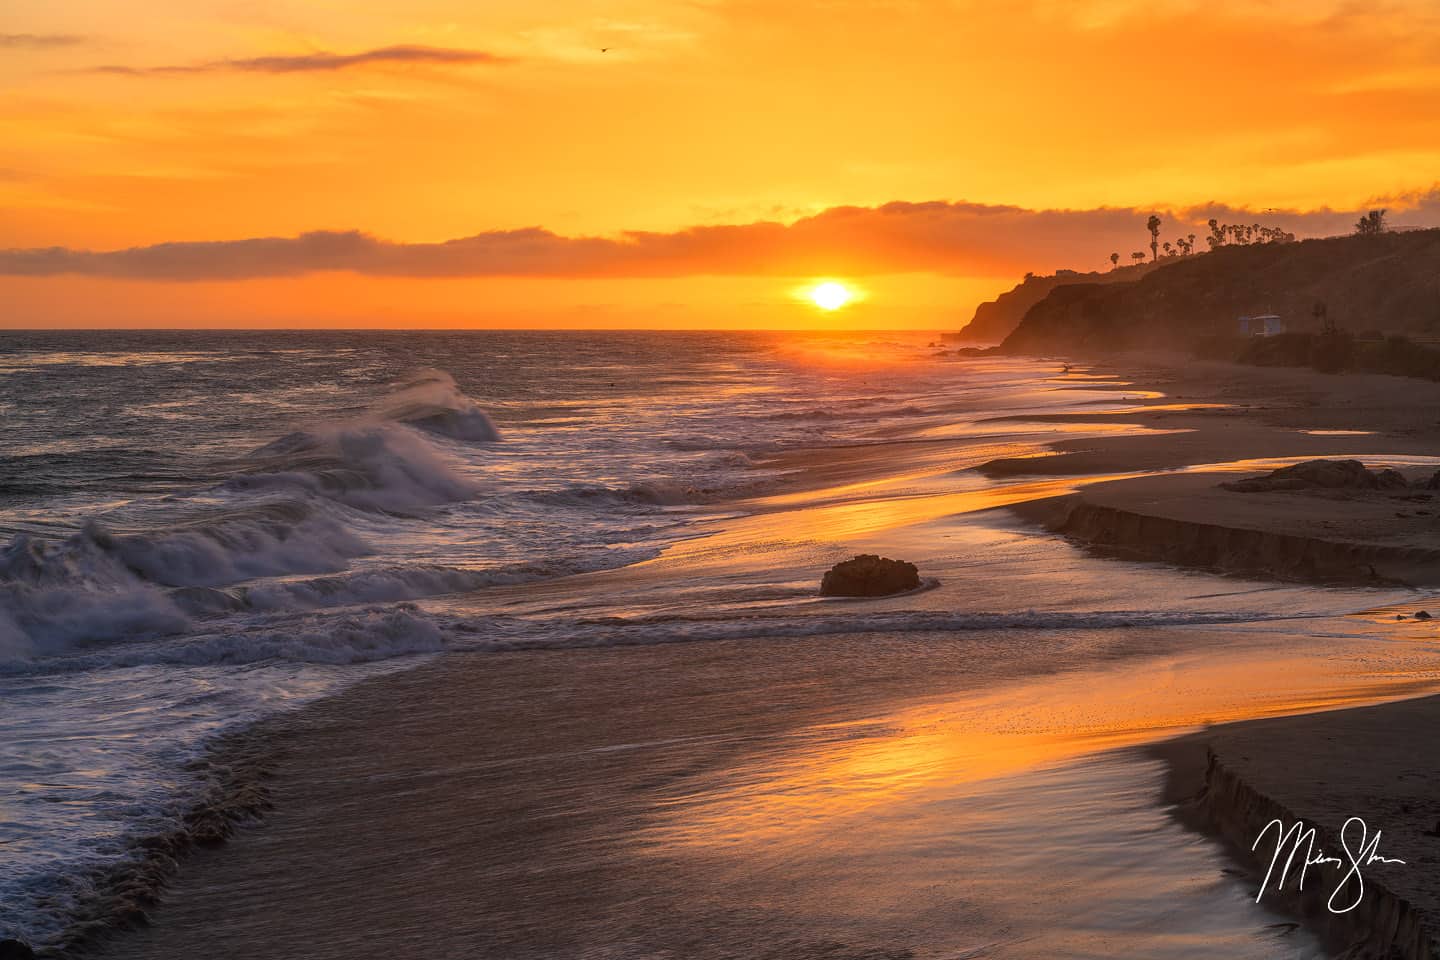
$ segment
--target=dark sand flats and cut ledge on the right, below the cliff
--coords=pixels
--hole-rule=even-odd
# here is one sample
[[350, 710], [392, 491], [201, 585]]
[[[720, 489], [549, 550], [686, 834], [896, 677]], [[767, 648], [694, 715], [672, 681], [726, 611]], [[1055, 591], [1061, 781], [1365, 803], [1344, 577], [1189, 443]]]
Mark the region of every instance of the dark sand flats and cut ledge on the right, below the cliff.
[[[1061, 440], [1053, 456], [998, 458], [996, 478], [1103, 482], [1015, 512], [1115, 556], [1312, 583], [1440, 583], [1440, 384], [1228, 364], [1136, 361], [1166, 391], [1117, 413], [1171, 433]], [[1194, 409], [1185, 397], [1198, 397]], [[1057, 422], [1071, 415], [1053, 417]], [[1309, 458], [1394, 466], [1411, 489], [1237, 492], [1223, 484]], [[1212, 465], [1212, 466], [1207, 466]], [[1119, 471], [1184, 471], [1106, 481]], [[1221, 472], [1223, 471], [1223, 472]]]

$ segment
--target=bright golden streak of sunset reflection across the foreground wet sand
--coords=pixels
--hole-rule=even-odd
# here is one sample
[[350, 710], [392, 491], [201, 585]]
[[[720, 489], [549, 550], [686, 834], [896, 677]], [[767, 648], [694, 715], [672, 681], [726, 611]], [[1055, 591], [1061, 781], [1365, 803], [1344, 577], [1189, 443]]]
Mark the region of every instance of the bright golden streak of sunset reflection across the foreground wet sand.
[[[1172, 737], [1208, 724], [1416, 697], [1440, 689], [1433, 632], [1395, 630], [1385, 613], [1344, 620], [1269, 622], [1236, 628], [1223, 655], [1120, 661], [966, 692], [894, 714], [822, 725], [793, 751], [733, 771], [677, 797], [657, 828], [671, 841], [808, 842], [804, 828], [845, 829], [865, 810], [933, 802], [936, 794], [1103, 750]], [[1391, 615], [1392, 616], [1392, 615]], [[1344, 630], [1296, 638], [1283, 651], [1266, 640], [1292, 630]], [[1187, 628], [1176, 632], [1197, 633]], [[1384, 639], [1382, 639], [1384, 638]], [[1200, 638], [1176, 638], [1189, 645]], [[1377, 643], [1400, 664], [1362, 669]], [[1377, 665], [1378, 666], [1378, 665]]]

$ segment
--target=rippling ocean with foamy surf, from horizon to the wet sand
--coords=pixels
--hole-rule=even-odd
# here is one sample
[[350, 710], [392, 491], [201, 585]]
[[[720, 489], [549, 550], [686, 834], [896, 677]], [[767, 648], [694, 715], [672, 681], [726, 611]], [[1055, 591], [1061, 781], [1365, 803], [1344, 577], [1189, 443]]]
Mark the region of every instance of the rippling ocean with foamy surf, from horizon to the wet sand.
[[[1096, 478], [969, 468], [1136, 432], [1109, 415], [1139, 394], [927, 341], [0, 334], [0, 934], [53, 937], [89, 871], [181, 813], [209, 737], [444, 651], [960, 633], [1100, 662], [1136, 628], [1365, 638], [1354, 615], [1403, 599], [995, 521]], [[1057, 412], [1096, 417], [1027, 420]], [[815, 597], [871, 541], [963, 594]]]

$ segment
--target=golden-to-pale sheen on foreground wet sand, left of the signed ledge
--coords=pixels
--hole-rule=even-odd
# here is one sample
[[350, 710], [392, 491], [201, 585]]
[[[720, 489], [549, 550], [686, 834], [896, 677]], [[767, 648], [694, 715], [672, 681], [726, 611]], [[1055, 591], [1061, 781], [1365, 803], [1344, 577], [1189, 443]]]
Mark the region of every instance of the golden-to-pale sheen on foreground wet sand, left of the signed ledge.
[[[1200, 652], [816, 724], [678, 784], [639, 849], [737, 902], [780, 900], [798, 927], [899, 925], [920, 956], [1325, 956], [1155, 803], [1158, 763], [1116, 748], [1440, 688], [1436, 638], [1378, 625], [1171, 632]], [[1362, 669], [1377, 645], [1395, 658]]]

